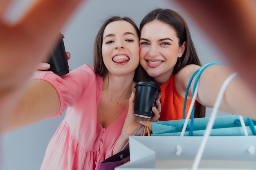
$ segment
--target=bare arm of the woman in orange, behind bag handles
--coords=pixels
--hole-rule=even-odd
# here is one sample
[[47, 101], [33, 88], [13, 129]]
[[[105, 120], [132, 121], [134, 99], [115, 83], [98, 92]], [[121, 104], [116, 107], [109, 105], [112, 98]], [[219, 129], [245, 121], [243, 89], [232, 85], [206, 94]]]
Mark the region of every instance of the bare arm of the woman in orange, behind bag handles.
[[[185, 96], [185, 89], [189, 79], [194, 71], [198, 68], [200, 67], [191, 64], [185, 66], [179, 73], [177, 73], [177, 82], [175, 82], [175, 84], [180, 95]], [[234, 69], [230, 66], [223, 65], [212, 65], [205, 68], [198, 81], [198, 95], [196, 98], [198, 102], [204, 106], [213, 107], [222, 84], [225, 82], [227, 77], [234, 72]], [[197, 75], [195, 75], [195, 77], [196, 76]], [[189, 89], [190, 98], [192, 98], [193, 94], [195, 77]], [[238, 75], [231, 80], [227, 86], [227, 89], [225, 90], [225, 94], [220, 105], [220, 110], [227, 113], [244, 115], [251, 117], [252, 119], [256, 119], [255, 103], [256, 97], [254, 93], [249, 90], [247, 84], [243, 81], [238, 73]]]

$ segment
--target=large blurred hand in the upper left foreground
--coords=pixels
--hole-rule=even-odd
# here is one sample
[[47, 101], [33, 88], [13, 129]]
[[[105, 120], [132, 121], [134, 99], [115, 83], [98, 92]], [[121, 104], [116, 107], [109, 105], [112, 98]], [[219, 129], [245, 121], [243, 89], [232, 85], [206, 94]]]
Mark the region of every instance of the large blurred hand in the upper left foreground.
[[[48, 56], [63, 28], [83, 0], [37, 0], [18, 22], [4, 14], [11, 0], [0, 2], [0, 120], [22, 93], [38, 62]], [[2, 122], [0, 122], [2, 124]]]

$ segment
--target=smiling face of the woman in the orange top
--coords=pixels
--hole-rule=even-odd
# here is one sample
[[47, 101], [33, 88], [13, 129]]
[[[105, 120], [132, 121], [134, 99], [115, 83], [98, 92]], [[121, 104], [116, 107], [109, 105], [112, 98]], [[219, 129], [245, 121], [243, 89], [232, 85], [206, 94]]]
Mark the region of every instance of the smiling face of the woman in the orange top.
[[182, 56], [186, 42], [179, 46], [175, 29], [159, 20], [145, 24], [140, 36], [141, 65], [156, 82], [164, 84], [171, 77], [173, 67], [178, 57]]

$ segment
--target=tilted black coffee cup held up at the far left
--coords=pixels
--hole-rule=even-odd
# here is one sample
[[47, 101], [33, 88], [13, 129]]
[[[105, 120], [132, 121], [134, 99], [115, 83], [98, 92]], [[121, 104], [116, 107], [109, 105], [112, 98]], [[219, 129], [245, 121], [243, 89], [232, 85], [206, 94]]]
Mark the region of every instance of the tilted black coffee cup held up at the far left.
[[45, 70], [45, 71], [52, 71], [59, 76], [69, 73], [67, 55], [66, 55], [63, 38], [64, 38], [64, 35], [61, 34], [58, 40], [58, 43], [56, 44], [56, 47], [50, 54], [49, 60], [46, 61], [51, 65], [51, 67], [48, 70]]

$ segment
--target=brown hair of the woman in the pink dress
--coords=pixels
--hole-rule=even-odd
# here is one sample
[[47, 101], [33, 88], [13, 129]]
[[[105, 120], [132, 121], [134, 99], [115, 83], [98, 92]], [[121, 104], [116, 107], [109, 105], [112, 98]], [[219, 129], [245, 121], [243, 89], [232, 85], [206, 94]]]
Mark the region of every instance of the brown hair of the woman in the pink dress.
[[[104, 62], [103, 62], [103, 57], [102, 57], [102, 43], [103, 43], [103, 32], [108, 24], [114, 21], [126, 21], [132, 24], [132, 26], [135, 28], [137, 36], [139, 38], [139, 28], [135, 24], [135, 22], [132, 21], [132, 19], [128, 17], [121, 18], [119, 16], [112, 16], [108, 18], [101, 26], [99, 29], [99, 32], [95, 38], [94, 41], [94, 71], [97, 75], [100, 75], [102, 77], [105, 77], [108, 73], [108, 69], [106, 68]], [[138, 44], [139, 45], [139, 44]], [[139, 66], [135, 70], [135, 76], [133, 80], [135, 82], [141, 81], [141, 79], [138, 78], [138, 73], [140, 71], [143, 71], [142, 66], [139, 64]]]

